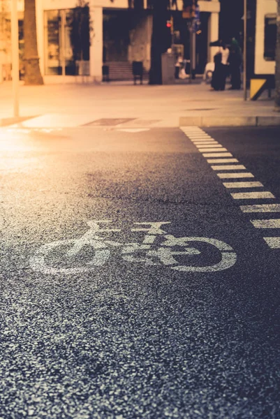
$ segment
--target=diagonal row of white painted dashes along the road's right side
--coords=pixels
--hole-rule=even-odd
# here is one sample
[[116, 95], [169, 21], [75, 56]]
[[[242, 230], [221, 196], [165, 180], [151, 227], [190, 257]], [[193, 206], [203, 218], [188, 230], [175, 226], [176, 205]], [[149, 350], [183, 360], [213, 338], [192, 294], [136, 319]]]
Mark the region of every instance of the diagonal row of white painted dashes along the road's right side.
[[[264, 188], [261, 182], [240, 182], [238, 179], [254, 177], [251, 172], [237, 172], [239, 170], [246, 170], [246, 167], [241, 164], [227, 165], [225, 163], [239, 163], [237, 159], [226, 159], [226, 157], [233, 157], [233, 154], [224, 148], [222, 145], [219, 145], [219, 142], [215, 140], [215, 146], [202, 144], [200, 141], [205, 140], [214, 140], [210, 135], [205, 133], [202, 128], [198, 126], [182, 126], [180, 127], [184, 134], [193, 142], [198, 148], [198, 151], [202, 153], [202, 156], [207, 158], [207, 163], [212, 165], [212, 163], [220, 163], [219, 166], [211, 166], [212, 170], [215, 170], [216, 175], [219, 179], [233, 179], [232, 182], [223, 182], [223, 186], [226, 189], [246, 189], [246, 188]], [[207, 153], [212, 152], [212, 153]], [[209, 157], [216, 157], [216, 159], [209, 159]], [[233, 170], [235, 172], [224, 172], [224, 170]], [[237, 180], [235, 180], [237, 179]], [[260, 200], [260, 199], [275, 199], [275, 196], [270, 191], [252, 191], [252, 192], [237, 192], [230, 193], [230, 196], [234, 200]], [[240, 205], [240, 210], [244, 213], [252, 212], [261, 212], [263, 214], [270, 212], [279, 212], [280, 213], [280, 204], [263, 204], [263, 205]], [[265, 228], [274, 228], [280, 229], [280, 219], [267, 219], [267, 220], [250, 220], [252, 225], [255, 228], [265, 229]], [[280, 233], [278, 233], [280, 234]], [[280, 249], [280, 237], [263, 237], [267, 245], [271, 249]]]

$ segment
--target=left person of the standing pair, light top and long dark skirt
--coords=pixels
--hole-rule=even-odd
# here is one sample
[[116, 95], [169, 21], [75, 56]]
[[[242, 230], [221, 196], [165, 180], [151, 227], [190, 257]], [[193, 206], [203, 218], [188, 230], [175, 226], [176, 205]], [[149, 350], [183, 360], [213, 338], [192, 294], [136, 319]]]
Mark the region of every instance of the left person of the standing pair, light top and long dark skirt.
[[212, 75], [211, 86], [214, 90], [224, 90], [228, 73], [228, 57], [230, 50], [223, 41], [220, 41], [218, 52], [214, 56], [215, 69]]

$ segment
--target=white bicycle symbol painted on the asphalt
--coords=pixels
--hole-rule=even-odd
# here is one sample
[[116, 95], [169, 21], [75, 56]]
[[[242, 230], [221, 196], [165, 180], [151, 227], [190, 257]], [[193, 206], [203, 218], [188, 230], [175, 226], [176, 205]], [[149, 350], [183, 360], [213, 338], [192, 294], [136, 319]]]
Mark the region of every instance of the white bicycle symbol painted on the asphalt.
[[[108, 226], [110, 220], [88, 221], [89, 230], [80, 239], [59, 240], [57, 242], [44, 244], [36, 254], [30, 258], [30, 266], [37, 272], [44, 274], [77, 274], [96, 270], [96, 267], [105, 265], [111, 256], [113, 248], [119, 249], [119, 256], [122, 260], [130, 263], [142, 263], [143, 265], [163, 265], [172, 270], [180, 272], [218, 272], [227, 270], [237, 260], [237, 256], [232, 247], [221, 240], [208, 237], [175, 237], [168, 234], [161, 227], [170, 222], [158, 223], [134, 223], [135, 228], [131, 228], [132, 233], [145, 233], [142, 242], [119, 243], [115, 240], [108, 240], [108, 233], [121, 232], [117, 228], [102, 228]], [[110, 238], [110, 237], [109, 237]], [[159, 240], [161, 239], [161, 240]], [[160, 242], [160, 243], [159, 243]], [[200, 255], [201, 251], [195, 247], [190, 247], [190, 243], [206, 243], [216, 248], [221, 256], [219, 263], [207, 266], [182, 265], [178, 258], [189, 260], [189, 256]], [[94, 256], [83, 267], [52, 267], [48, 265], [47, 258], [54, 251], [59, 249], [65, 252], [68, 260], [82, 254], [84, 247], [91, 247]]]

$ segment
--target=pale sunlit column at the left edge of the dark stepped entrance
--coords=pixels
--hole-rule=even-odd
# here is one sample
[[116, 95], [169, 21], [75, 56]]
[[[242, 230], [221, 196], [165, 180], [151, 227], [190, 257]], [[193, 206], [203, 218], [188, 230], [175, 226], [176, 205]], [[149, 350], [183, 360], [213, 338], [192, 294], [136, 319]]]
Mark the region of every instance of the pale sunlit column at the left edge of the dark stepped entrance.
[[89, 49], [89, 75], [93, 82], [100, 83], [103, 66], [103, 8], [91, 6], [90, 15], [94, 31]]

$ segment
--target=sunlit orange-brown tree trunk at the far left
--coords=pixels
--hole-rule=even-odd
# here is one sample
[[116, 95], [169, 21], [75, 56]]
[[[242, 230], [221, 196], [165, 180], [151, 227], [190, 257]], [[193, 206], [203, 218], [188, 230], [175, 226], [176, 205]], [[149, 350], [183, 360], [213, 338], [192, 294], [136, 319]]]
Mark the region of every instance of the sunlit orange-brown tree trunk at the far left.
[[37, 47], [36, 0], [24, 0], [24, 84], [43, 84]]

